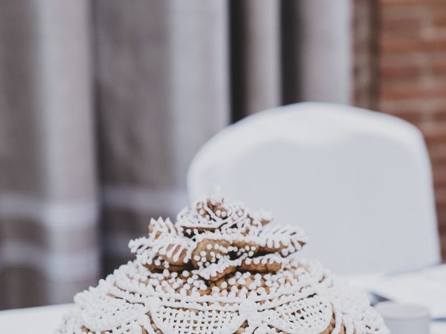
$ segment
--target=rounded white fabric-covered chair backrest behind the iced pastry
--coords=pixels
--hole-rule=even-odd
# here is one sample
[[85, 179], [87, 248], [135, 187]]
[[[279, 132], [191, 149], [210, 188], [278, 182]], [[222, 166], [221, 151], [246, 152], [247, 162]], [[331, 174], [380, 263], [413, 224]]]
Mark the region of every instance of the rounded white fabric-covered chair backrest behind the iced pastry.
[[440, 260], [422, 134], [384, 113], [309, 102], [256, 113], [203, 145], [187, 183], [192, 200], [218, 185], [302, 226], [302, 253], [339, 273]]

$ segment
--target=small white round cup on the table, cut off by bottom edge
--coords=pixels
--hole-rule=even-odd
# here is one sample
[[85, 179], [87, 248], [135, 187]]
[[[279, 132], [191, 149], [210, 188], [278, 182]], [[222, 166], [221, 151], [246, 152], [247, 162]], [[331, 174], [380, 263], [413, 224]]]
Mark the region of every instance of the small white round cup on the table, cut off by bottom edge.
[[375, 308], [391, 334], [429, 334], [431, 317], [423, 306], [383, 301]]

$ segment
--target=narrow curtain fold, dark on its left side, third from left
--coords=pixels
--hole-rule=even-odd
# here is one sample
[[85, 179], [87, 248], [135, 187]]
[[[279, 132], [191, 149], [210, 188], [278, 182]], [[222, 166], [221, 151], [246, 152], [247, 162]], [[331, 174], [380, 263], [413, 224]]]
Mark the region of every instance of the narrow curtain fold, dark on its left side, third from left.
[[281, 2], [230, 2], [234, 120], [282, 104]]

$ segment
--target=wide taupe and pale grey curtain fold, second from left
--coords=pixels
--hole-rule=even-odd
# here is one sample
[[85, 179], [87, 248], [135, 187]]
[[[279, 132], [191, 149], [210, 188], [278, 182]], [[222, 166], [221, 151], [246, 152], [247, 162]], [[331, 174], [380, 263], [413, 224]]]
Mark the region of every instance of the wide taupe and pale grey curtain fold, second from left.
[[224, 1], [95, 3], [105, 271], [187, 204], [194, 152], [229, 122]]

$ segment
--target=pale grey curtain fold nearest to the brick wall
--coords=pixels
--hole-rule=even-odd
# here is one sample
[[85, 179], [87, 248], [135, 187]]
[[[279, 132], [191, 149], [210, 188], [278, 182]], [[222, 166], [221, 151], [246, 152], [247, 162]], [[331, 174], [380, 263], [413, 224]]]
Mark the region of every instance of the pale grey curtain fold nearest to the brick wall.
[[[351, 0], [291, 1], [297, 48], [295, 91], [302, 101], [351, 104]], [[288, 14], [290, 15], [290, 14]]]

